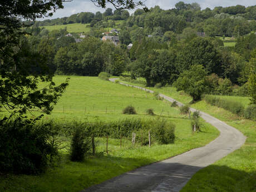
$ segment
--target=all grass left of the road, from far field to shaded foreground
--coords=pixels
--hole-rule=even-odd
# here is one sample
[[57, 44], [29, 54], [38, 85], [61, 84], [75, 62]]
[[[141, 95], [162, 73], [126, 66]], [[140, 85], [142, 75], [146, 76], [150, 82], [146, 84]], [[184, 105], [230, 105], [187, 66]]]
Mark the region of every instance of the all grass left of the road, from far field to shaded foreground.
[[[63, 82], [66, 77], [56, 76], [55, 82]], [[139, 107], [138, 115], [123, 115], [122, 109], [127, 105], [133, 105], [136, 110]], [[155, 117], [146, 115], [145, 110], [149, 108], [154, 109]], [[78, 192], [142, 165], [204, 146], [219, 135], [218, 130], [206, 123], [201, 132], [192, 135], [189, 117], [180, 115], [177, 107], [170, 107], [168, 102], [156, 100], [150, 93], [103, 81], [97, 77], [71, 76], [66, 92], [63, 93], [52, 115], [45, 116], [45, 120], [112, 121], [159, 116], [176, 125], [174, 144], [153, 143], [151, 147], [137, 144], [131, 147], [131, 141], [124, 138], [120, 148], [119, 139], [109, 139], [109, 154], [106, 154], [106, 138], [97, 138], [95, 156], [87, 156], [82, 163], [75, 163], [68, 159], [67, 150], [62, 151], [61, 161], [45, 174], [0, 175], [0, 191]], [[69, 145], [70, 141], [66, 141], [66, 144]]]

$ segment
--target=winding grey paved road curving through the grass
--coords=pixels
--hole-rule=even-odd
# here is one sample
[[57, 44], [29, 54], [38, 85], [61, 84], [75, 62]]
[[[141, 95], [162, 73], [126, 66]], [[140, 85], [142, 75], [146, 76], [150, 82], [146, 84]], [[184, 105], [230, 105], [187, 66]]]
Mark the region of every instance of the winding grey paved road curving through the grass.
[[[117, 78], [110, 81], [115, 82]], [[140, 88], [141, 90], [153, 93], [139, 86], [125, 86]], [[174, 99], [159, 94], [165, 100]], [[178, 102], [178, 101], [177, 101]], [[183, 105], [178, 102], [178, 105]], [[195, 109], [191, 108], [191, 111]], [[196, 171], [213, 164], [215, 161], [239, 149], [245, 142], [246, 137], [237, 129], [225, 124], [213, 116], [200, 112], [201, 117], [209, 124], [220, 131], [220, 135], [204, 147], [199, 147], [184, 154], [171, 157], [151, 165], [129, 171], [120, 176], [116, 176], [99, 185], [91, 186], [83, 192], [176, 192], [180, 191]]]

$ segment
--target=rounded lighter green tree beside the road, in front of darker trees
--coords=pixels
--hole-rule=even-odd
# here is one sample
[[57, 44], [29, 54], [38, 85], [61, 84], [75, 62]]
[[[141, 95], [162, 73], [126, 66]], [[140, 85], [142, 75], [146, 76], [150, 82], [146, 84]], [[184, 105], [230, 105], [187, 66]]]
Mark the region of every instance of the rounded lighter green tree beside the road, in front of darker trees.
[[207, 73], [202, 65], [194, 65], [190, 70], [180, 74], [174, 86], [178, 91], [183, 90], [188, 93], [193, 97], [193, 101], [198, 101], [206, 90], [206, 75]]

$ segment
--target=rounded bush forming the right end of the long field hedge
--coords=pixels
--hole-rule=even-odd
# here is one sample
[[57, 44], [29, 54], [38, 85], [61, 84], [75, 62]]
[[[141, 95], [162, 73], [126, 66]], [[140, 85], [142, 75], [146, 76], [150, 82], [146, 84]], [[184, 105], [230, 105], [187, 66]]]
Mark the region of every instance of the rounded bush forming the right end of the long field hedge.
[[152, 130], [154, 137], [159, 144], [171, 144], [175, 139], [175, 125], [166, 120], [159, 120], [155, 122], [155, 127]]

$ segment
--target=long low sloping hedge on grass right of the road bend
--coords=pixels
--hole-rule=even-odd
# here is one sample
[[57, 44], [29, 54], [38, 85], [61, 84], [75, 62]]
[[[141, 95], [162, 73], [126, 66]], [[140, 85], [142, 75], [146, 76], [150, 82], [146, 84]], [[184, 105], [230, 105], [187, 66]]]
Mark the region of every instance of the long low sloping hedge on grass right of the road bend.
[[205, 95], [204, 100], [210, 105], [221, 107], [239, 116], [242, 116], [244, 113], [243, 104], [237, 101], [230, 101], [213, 95]]

